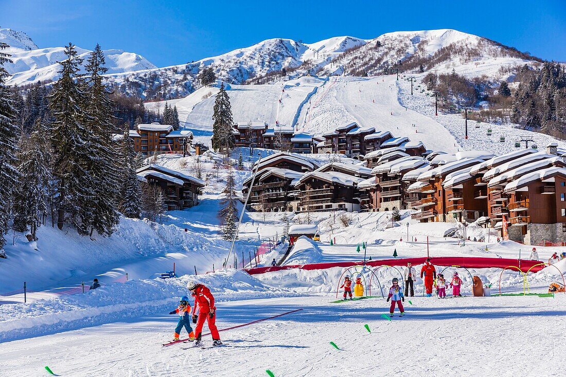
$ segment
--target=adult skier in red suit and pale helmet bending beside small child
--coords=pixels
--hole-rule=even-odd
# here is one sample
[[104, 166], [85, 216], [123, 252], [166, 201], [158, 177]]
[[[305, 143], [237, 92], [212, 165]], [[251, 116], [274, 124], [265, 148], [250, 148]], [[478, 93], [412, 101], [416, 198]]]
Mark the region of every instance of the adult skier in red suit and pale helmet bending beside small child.
[[[214, 305], [214, 296], [210, 289], [196, 281], [189, 281], [187, 283], [187, 289], [190, 290], [191, 294], [195, 297], [195, 306], [192, 308], [192, 322], [196, 323], [194, 345], [196, 347], [202, 345], [201, 337], [205, 320], [208, 322], [208, 329], [211, 331], [213, 340], [212, 345], [222, 345], [220, 335], [218, 334], [218, 329], [215, 324], [216, 306]], [[198, 314], [196, 314], [197, 306], [199, 307]]]

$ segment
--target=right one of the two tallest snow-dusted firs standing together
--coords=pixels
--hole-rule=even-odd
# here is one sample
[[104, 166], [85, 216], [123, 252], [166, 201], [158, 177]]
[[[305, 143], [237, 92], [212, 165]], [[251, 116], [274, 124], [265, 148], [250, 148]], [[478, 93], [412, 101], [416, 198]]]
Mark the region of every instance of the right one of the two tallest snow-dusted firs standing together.
[[[87, 101], [85, 112], [88, 114], [87, 130], [90, 132], [89, 152], [92, 153], [92, 165], [89, 167], [93, 184], [91, 188], [92, 229], [98, 234], [110, 235], [118, 224], [118, 165], [114, 158], [114, 140], [112, 138], [113, 102], [103, 83], [102, 75], [108, 71], [104, 53], [100, 45], [89, 54], [85, 70], [85, 92]], [[129, 139], [129, 137], [128, 137]]]

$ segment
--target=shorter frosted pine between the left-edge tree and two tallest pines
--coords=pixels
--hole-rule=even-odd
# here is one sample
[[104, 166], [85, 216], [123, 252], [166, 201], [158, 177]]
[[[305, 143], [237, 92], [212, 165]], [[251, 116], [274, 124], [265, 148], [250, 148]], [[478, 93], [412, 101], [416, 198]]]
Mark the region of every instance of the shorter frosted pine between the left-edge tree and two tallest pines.
[[22, 139], [18, 170], [20, 179], [14, 198], [14, 229], [29, 232], [37, 239], [36, 232], [42, 217], [47, 212], [49, 169], [49, 147], [46, 132], [37, 118], [29, 138]]

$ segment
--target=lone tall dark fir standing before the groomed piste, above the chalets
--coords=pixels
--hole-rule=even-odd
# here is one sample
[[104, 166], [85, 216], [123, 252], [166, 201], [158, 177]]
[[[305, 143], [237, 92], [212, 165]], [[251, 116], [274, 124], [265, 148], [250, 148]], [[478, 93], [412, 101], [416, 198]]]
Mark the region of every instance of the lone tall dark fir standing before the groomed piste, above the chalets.
[[216, 95], [214, 114], [212, 115], [214, 124], [212, 125], [212, 148], [215, 151], [224, 149], [226, 154], [230, 148], [234, 147], [235, 139], [232, 132], [232, 110], [230, 97], [224, 89], [224, 84], [220, 86], [220, 91]]

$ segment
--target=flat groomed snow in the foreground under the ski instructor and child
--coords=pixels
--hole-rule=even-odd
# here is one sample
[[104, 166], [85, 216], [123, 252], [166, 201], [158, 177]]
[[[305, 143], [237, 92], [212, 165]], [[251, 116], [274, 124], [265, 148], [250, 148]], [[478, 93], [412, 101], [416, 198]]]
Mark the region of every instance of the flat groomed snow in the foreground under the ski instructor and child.
[[[331, 296], [218, 304], [218, 328], [295, 309], [288, 316], [221, 332], [225, 346], [162, 347], [176, 319], [164, 312], [0, 344], [5, 375], [360, 376], [558, 375], [564, 299], [541, 297], [405, 300], [389, 321], [384, 299], [331, 303]], [[412, 305], [408, 301], [412, 302]], [[368, 333], [364, 327], [371, 330]], [[210, 345], [209, 336], [204, 339]], [[329, 342], [335, 342], [340, 350]]]

